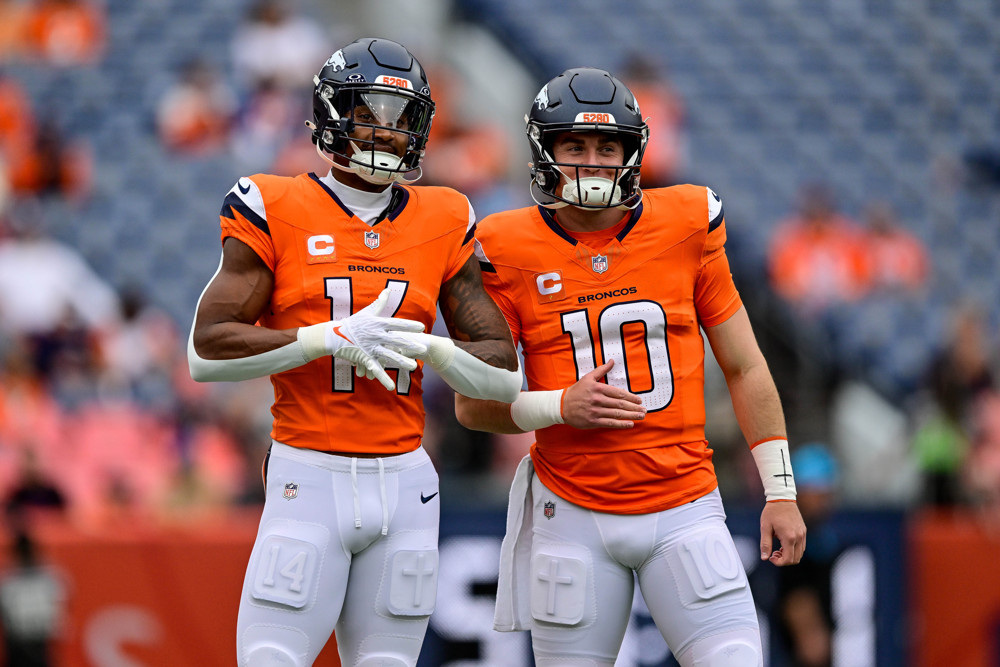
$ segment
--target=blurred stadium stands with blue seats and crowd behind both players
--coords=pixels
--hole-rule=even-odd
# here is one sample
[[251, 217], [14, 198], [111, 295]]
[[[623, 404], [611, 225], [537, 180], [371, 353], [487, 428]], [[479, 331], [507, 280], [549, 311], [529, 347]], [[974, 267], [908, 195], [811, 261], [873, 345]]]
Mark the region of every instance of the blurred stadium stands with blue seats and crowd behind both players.
[[[80, 4], [8, 0], [0, 23]], [[377, 35], [430, 72], [425, 179], [466, 192], [480, 218], [530, 203], [521, 119], [544, 81], [591, 65], [653, 91], [639, 101], [661, 112], [653, 139], [669, 134], [658, 150], [672, 158], [650, 181], [722, 196], [793, 447], [822, 443], [837, 463], [816, 533], [837, 545], [832, 664], [1000, 665], [1000, 2], [289, 0], [284, 16], [268, 4], [95, 0], [94, 35], [0, 31], [0, 130], [26, 127], [10, 121], [22, 99], [38, 137], [25, 150], [45, 172], [19, 181], [22, 148], [0, 144], [0, 493], [7, 524], [66, 584], [56, 664], [231, 664], [270, 387], [193, 385], [187, 330], [218, 263], [225, 193], [249, 173], [324, 169], [303, 125], [311, 77], [335, 48]], [[168, 122], [184, 114], [196, 120]], [[820, 191], [861, 231], [888, 206], [926, 272], [784, 298], [775, 239]], [[39, 238], [69, 256], [26, 252]], [[94, 275], [70, 272], [77, 260]], [[61, 285], [46, 294], [73, 317], [15, 326], [34, 296], [24, 276]], [[506, 486], [530, 441], [465, 432], [449, 390], [427, 385], [444, 515], [421, 665], [530, 664], [526, 636], [489, 630]], [[708, 385], [768, 664], [793, 665], [776, 629], [781, 585], [754, 570], [759, 482], [717, 372]], [[46, 503], [55, 517], [15, 518]], [[638, 598], [620, 664], [671, 660]]]

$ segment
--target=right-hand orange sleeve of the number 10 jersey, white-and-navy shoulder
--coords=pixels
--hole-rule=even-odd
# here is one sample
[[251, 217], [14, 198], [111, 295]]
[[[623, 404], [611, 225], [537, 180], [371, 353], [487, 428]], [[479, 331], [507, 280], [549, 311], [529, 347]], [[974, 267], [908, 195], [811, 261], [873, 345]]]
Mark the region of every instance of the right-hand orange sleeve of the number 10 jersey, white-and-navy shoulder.
[[695, 282], [694, 303], [701, 325], [713, 327], [732, 317], [743, 302], [726, 257], [726, 221], [722, 201], [711, 189], [706, 189], [709, 198], [708, 234]]

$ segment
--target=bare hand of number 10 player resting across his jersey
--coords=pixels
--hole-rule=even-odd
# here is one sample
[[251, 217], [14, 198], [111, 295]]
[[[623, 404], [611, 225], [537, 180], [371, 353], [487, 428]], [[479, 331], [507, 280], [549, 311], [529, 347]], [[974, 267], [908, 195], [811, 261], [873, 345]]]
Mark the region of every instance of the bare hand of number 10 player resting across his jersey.
[[646, 418], [642, 399], [601, 382], [614, 360], [590, 371], [563, 394], [563, 421], [576, 428], [632, 428]]

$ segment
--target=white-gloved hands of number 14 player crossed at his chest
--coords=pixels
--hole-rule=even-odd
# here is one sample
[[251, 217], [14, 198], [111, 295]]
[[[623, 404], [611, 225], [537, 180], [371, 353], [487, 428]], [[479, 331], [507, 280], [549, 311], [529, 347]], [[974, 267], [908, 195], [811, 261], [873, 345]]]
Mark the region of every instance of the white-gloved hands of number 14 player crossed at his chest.
[[330, 322], [325, 329], [325, 344], [331, 355], [356, 366], [359, 377], [374, 378], [386, 389], [393, 390], [396, 384], [385, 372], [385, 367], [415, 370], [417, 362], [412, 357], [426, 350], [402, 335], [423, 331], [424, 325], [414, 320], [385, 317], [383, 311], [388, 302], [389, 290], [385, 289], [375, 301], [350, 317]]

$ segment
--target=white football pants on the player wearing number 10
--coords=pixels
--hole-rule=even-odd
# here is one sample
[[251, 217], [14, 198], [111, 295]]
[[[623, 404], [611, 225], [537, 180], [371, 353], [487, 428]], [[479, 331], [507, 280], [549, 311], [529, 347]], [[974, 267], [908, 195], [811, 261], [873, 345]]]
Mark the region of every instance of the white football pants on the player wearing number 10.
[[633, 571], [684, 667], [756, 667], [760, 630], [718, 490], [654, 514], [605, 514], [532, 480], [531, 643], [538, 667], [610, 666]]

